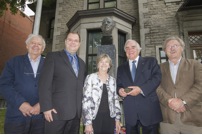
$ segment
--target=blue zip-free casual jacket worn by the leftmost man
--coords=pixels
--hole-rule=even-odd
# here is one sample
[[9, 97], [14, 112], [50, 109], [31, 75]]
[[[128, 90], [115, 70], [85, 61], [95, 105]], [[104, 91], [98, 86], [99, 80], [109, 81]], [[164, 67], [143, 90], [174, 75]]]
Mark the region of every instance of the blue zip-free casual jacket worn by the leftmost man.
[[28, 54], [16, 56], [6, 63], [0, 76], [0, 94], [7, 102], [6, 121], [25, 118], [19, 110], [23, 102], [32, 106], [39, 102], [38, 80], [43, 62], [41, 57], [36, 78]]

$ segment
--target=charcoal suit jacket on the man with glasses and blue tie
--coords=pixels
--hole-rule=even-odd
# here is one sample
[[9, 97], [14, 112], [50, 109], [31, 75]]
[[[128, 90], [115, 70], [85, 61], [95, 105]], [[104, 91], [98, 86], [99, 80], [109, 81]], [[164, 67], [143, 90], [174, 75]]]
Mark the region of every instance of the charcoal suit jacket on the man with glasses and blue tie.
[[53, 119], [70, 120], [76, 114], [81, 116], [85, 63], [80, 58], [78, 61], [76, 77], [64, 50], [47, 54], [39, 81], [39, 100], [43, 112], [56, 109]]

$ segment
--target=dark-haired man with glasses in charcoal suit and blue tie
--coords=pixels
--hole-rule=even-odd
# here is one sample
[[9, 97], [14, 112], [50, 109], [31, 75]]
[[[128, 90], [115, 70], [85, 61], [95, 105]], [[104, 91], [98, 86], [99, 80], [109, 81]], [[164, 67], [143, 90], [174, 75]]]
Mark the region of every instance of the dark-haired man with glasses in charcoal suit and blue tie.
[[64, 50], [47, 54], [39, 82], [45, 133], [79, 133], [85, 79], [85, 63], [76, 55], [79, 47], [78, 33], [70, 32]]

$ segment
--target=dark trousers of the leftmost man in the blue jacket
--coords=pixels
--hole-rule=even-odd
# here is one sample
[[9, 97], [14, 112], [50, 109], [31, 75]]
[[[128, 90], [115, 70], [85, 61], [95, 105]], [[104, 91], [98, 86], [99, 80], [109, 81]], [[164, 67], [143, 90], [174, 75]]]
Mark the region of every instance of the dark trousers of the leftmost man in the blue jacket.
[[43, 134], [44, 118], [27, 117], [24, 121], [6, 121], [5, 134]]

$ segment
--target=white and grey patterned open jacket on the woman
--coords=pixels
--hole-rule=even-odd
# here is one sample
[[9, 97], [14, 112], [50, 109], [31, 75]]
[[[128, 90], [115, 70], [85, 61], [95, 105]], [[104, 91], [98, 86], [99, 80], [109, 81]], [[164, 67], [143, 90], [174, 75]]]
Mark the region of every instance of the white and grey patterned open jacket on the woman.
[[[121, 109], [116, 93], [116, 80], [112, 76], [106, 81], [108, 91], [108, 103], [111, 118], [121, 119]], [[83, 88], [83, 123], [84, 125], [92, 124], [96, 118], [100, 101], [102, 98], [103, 83], [98, 78], [97, 73], [92, 73], [86, 77]]]

